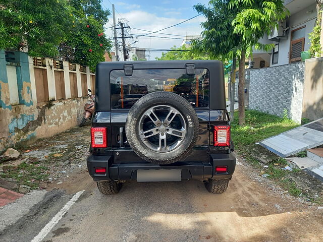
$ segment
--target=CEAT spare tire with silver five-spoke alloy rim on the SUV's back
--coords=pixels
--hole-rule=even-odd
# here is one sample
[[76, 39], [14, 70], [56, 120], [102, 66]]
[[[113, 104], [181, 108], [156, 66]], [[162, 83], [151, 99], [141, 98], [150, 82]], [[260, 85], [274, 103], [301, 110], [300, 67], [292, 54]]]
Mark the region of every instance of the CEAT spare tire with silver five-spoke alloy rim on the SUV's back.
[[192, 105], [172, 92], [153, 92], [131, 107], [126, 121], [130, 147], [142, 159], [170, 164], [185, 158], [198, 137]]

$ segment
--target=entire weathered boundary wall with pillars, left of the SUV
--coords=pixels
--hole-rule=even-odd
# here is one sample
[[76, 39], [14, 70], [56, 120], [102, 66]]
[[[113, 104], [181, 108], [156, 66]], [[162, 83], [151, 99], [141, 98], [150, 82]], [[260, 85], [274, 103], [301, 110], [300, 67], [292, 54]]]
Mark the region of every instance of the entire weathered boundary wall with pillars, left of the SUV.
[[85, 87], [94, 90], [94, 74], [88, 67], [76, 64], [73, 70], [68, 62], [58, 67], [51, 58], [34, 60], [20, 51], [10, 54], [15, 58], [7, 62], [0, 50], [0, 153], [76, 126], [87, 101]]

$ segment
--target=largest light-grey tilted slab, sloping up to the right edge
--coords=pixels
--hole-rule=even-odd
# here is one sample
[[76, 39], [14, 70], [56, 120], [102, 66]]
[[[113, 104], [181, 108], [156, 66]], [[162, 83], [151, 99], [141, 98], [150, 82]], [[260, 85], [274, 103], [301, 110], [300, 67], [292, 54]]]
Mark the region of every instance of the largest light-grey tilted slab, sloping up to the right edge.
[[323, 118], [259, 142], [259, 145], [286, 158], [323, 144]]

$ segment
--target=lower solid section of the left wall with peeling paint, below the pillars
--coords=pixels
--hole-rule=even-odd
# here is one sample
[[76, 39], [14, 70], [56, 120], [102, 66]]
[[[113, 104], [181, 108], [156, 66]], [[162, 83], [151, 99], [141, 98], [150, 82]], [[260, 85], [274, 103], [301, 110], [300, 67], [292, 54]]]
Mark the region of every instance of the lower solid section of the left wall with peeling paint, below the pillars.
[[86, 97], [80, 97], [0, 108], [0, 152], [15, 144], [30, 144], [77, 126], [86, 101]]

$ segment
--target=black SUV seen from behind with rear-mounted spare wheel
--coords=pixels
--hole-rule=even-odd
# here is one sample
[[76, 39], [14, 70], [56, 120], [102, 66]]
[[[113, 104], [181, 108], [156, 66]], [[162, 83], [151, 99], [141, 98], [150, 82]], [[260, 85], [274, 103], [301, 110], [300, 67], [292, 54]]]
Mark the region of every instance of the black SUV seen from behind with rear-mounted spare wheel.
[[100, 63], [89, 174], [102, 194], [182, 179], [223, 193], [236, 166], [229, 122], [219, 61]]

